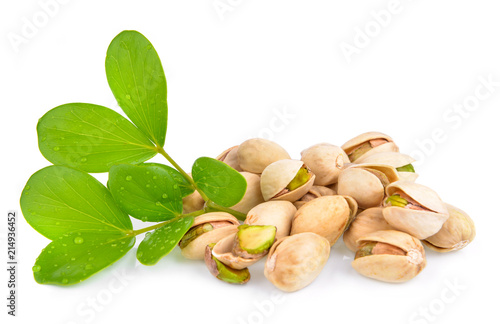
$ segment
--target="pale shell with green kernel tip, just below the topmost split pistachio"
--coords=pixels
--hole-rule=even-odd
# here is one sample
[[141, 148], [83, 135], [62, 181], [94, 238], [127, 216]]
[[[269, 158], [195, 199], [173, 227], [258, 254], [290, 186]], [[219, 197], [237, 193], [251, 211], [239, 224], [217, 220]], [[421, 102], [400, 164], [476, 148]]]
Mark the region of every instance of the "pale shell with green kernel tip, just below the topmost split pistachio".
[[415, 181], [418, 174], [415, 173], [412, 163], [415, 159], [409, 155], [399, 152], [380, 152], [359, 158], [356, 163], [386, 164], [396, 168], [401, 180]]

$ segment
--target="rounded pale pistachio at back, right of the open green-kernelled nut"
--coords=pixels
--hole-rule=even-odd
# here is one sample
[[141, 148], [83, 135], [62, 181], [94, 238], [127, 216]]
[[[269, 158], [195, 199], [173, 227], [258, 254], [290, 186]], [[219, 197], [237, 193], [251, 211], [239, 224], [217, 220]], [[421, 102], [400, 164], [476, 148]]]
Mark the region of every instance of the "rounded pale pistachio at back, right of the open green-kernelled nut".
[[347, 154], [338, 146], [321, 143], [301, 153], [301, 160], [316, 175], [314, 184], [328, 186], [337, 182], [344, 164], [349, 163]]

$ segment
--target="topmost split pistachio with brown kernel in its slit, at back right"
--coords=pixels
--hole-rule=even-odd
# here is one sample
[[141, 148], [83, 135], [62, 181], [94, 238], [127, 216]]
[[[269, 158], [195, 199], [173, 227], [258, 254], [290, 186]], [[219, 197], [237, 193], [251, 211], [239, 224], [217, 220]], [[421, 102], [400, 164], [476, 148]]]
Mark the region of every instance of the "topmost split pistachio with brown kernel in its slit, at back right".
[[379, 132], [367, 132], [354, 137], [342, 145], [351, 162], [379, 152], [399, 152], [391, 137]]

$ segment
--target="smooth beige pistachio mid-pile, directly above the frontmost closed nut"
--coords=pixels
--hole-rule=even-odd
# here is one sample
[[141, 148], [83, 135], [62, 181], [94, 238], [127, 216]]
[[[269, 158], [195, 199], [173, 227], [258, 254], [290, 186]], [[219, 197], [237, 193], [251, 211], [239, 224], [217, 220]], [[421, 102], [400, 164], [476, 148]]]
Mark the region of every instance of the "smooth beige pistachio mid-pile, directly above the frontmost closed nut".
[[333, 246], [354, 217], [355, 204], [354, 200], [339, 195], [311, 200], [295, 213], [290, 234], [316, 233]]

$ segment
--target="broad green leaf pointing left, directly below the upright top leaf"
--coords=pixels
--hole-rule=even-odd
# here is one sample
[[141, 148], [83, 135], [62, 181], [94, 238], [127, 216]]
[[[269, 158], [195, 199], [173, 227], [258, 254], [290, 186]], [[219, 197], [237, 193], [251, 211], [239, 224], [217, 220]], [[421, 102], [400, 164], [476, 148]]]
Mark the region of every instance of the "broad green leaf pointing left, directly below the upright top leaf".
[[141, 163], [156, 155], [153, 143], [117, 112], [72, 103], [48, 111], [38, 122], [38, 146], [53, 164], [107, 172], [118, 163]]

